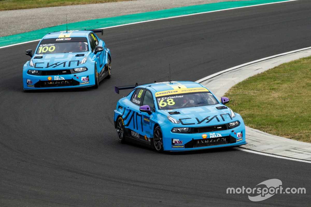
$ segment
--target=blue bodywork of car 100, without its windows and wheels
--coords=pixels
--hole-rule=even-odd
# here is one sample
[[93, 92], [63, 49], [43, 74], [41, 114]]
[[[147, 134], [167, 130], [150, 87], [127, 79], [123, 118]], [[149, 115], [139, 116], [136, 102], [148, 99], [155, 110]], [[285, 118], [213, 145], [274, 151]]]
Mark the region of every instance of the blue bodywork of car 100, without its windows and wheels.
[[[84, 37], [88, 42], [88, 51], [86, 52], [72, 52], [72, 53], [56, 53], [56, 54], [34, 54], [30, 61], [34, 66], [30, 66], [30, 61], [27, 61], [23, 67], [23, 88], [24, 90], [38, 90], [38, 89], [55, 89], [55, 88], [77, 88], [77, 87], [89, 87], [95, 85], [96, 73], [99, 76], [99, 80], [103, 79], [108, 75], [107, 63], [108, 59], [111, 61], [110, 50], [106, 47], [103, 40], [99, 39], [96, 34], [95, 37], [98, 39], [98, 45], [103, 47], [104, 50], [98, 52], [91, 51], [91, 44], [89, 40], [89, 34], [92, 31], [64, 31], [64, 32], [53, 32], [46, 34], [39, 42], [36, 50], [42, 40], [50, 38], [75, 38]], [[79, 55], [79, 56], [76, 56]], [[87, 58], [86, 62], [81, 63], [84, 58]], [[87, 70], [84, 72], [72, 72], [74, 68], [86, 67]], [[28, 74], [28, 70], [38, 70], [40, 75]], [[60, 72], [56, 74], [55, 71]], [[66, 72], [67, 71], [67, 72]], [[68, 72], [71, 71], [71, 72]], [[63, 73], [62, 73], [63, 72]], [[41, 73], [44, 75], [41, 75]], [[47, 75], [45, 75], [48, 73]], [[42, 86], [41, 82], [44, 81], [58, 81], [64, 82], [69, 81], [71, 85], [61, 85], [47, 87]]]

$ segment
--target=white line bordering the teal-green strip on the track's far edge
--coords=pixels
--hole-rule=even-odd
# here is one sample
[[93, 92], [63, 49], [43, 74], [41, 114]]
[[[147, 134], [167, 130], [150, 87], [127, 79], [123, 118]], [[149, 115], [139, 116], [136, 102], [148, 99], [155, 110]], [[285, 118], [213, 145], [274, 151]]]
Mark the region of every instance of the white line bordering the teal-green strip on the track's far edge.
[[[226, 11], [226, 10], [232, 10], [232, 9], [240, 9], [240, 8], [247, 8], [247, 7], [256, 7], [256, 6], [262, 6], [262, 5], [268, 5], [268, 4], [277, 4], [277, 3], [293, 2], [293, 1], [299, 1], [299, 0], [288, 0], [288, 1], [281, 1], [281, 2], [272, 2], [272, 3], [265, 3], [265, 4], [256, 4], [256, 5], [245, 6], [245, 7], [234, 7], [234, 8], [228, 8], [228, 9], [215, 10], [215, 11], [205, 11], [205, 12], [200, 12], [200, 13], [195, 13], [195, 14], [187, 14], [187, 15], [180, 15], [180, 16], [171, 16], [171, 17], [166, 17], [166, 18], [161, 18], [161, 19], [154, 19], [154, 20], [146, 20], [146, 21], [140, 21], [140, 22], [133, 22], [133, 23], [124, 24], [124, 25], [115, 25], [115, 26], [111, 26], [111, 27], [103, 27], [103, 28], [99, 28], [99, 29], [108, 29], [108, 28], [113, 28], [113, 27], [121, 27], [121, 26], [126, 26], [126, 25], [134, 25], [134, 24], [139, 24], [139, 23], [144, 23], [144, 22], [151, 22], [151, 21], [157, 21], [157, 20], [172, 19], [172, 18], [178, 18], [178, 17], [183, 17], [183, 16], [192, 16], [192, 15], [206, 14], [206, 13], [217, 12], [217, 11]], [[1, 49], [1, 48], [5, 48], [5, 47], [15, 46], [15, 45], [21, 45], [21, 44], [25, 44], [25, 43], [32, 43], [32, 42], [36, 42], [36, 41], [39, 41], [39, 40], [40, 40], [40, 39], [32, 40], [32, 41], [28, 41], [28, 42], [23, 42], [23, 43], [16, 43], [16, 44], [7, 45], [7, 46], [2, 46], [2, 47], [0, 47], [0, 49]]]

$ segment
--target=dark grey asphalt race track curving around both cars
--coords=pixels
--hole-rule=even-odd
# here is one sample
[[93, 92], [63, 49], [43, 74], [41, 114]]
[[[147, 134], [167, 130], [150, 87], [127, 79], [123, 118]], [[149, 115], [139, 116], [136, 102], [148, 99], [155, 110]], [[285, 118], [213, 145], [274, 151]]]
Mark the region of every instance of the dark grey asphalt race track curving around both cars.
[[[98, 89], [23, 92], [28, 43], [0, 49], [0, 206], [310, 206], [308, 163], [234, 149], [164, 153], [120, 144], [114, 85], [195, 81], [311, 46], [311, 3], [286, 2], [105, 29], [113, 77]], [[301, 100], [300, 100], [301, 101]], [[300, 101], [297, 101], [299, 104]], [[252, 202], [268, 179], [306, 194]]]

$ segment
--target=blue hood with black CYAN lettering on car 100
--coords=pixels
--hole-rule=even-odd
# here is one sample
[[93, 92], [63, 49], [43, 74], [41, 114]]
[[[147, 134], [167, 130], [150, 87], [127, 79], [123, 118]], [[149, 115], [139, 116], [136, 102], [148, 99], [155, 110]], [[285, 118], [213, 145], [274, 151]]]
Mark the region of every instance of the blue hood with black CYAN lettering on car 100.
[[[79, 62], [86, 56], [87, 52], [79, 53], [60, 53], [60, 54], [35, 54], [32, 61], [35, 68], [54, 70], [76, 68]], [[76, 56], [80, 55], [80, 56]], [[81, 56], [83, 55], [83, 56]], [[41, 58], [42, 57], [42, 58]]]

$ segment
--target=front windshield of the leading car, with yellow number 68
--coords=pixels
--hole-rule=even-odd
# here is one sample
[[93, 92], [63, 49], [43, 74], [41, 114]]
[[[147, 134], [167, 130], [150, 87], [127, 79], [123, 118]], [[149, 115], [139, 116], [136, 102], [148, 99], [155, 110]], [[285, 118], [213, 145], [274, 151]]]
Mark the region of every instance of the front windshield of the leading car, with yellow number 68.
[[218, 104], [210, 92], [182, 93], [156, 97], [161, 110], [180, 109], [194, 106], [210, 106]]

